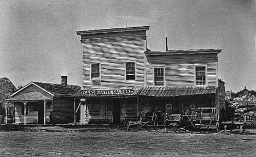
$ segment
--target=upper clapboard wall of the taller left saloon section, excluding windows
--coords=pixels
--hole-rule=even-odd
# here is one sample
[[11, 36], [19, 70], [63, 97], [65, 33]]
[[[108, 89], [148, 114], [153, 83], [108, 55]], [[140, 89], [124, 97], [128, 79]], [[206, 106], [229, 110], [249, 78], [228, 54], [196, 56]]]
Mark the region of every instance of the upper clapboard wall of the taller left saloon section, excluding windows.
[[[146, 40], [83, 43], [83, 88], [144, 86]], [[136, 62], [136, 80], [125, 81], [125, 62]], [[90, 64], [100, 63], [101, 81], [90, 81]]]

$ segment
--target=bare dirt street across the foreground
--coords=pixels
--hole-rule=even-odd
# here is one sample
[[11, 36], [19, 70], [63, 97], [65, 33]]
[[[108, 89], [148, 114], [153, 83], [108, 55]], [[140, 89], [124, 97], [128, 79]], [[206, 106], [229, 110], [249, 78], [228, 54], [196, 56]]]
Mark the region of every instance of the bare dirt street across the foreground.
[[[64, 129], [0, 132], [0, 156], [255, 156], [256, 131]], [[59, 129], [59, 131], [58, 131]], [[62, 130], [61, 130], [62, 129]], [[38, 130], [34, 129], [34, 130]], [[55, 130], [55, 132], [49, 131]], [[57, 131], [57, 132], [56, 132]]]

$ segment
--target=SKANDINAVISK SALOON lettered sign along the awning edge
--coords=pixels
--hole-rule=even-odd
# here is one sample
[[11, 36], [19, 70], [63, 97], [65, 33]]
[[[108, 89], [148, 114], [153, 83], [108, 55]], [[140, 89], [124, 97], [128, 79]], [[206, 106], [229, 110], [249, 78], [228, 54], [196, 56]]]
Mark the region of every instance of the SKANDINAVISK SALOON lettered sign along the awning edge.
[[105, 94], [131, 94], [132, 89], [101, 89], [101, 90], [81, 90], [82, 95], [105, 95]]

